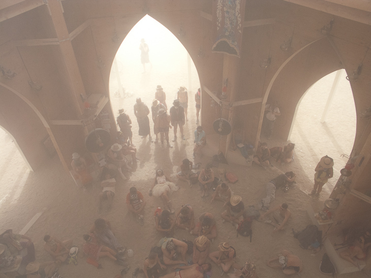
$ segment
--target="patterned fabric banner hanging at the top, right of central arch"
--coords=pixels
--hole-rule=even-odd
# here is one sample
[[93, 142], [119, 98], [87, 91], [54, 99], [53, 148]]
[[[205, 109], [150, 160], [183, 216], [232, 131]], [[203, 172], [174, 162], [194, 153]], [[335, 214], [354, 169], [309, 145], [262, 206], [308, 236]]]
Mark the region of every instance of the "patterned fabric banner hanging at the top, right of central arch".
[[245, 0], [213, 1], [214, 38], [211, 51], [240, 56]]

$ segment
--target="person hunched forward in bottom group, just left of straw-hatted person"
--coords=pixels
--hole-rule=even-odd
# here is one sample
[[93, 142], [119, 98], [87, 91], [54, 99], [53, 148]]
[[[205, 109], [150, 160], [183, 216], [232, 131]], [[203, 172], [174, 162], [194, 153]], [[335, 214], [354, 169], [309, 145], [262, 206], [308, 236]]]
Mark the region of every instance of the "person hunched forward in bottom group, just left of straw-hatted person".
[[[165, 264], [167, 265], [188, 264], [187, 260], [185, 259], [185, 255], [187, 254], [188, 250], [188, 245], [185, 242], [175, 239], [173, 237], [165, 237], [162, 240], [160, 240], [160, 243], [162, 252], [164, 254], [163, 259]], [[181, 260], [177, 260], [176, 252], [180, 253]]]

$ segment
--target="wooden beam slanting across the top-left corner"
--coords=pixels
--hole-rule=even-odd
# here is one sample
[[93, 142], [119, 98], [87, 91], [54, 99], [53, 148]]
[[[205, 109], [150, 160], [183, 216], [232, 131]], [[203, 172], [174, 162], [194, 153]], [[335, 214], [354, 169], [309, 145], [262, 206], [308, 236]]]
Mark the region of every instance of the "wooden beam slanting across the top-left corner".
[[[11, 0], [11, 1], [14, 1], [14, 0]], [[33, 10], [39, 6], [45, 5], [43, 0], [26, 0], [22, 2], [14, 1], [16, 4], [12, 6], [8, 6], [8, 7], [7, 5], [9, 3], [2, 3], [2, 2], [3, 0], [0, 0], [1, 6], [3, 7], [2, 9], [0, 9], [0, 22], [5, 21], [9, 18], [15, 17], [17, 15], [23, 14], [25, 12], [28, 12], [30, 10]]]

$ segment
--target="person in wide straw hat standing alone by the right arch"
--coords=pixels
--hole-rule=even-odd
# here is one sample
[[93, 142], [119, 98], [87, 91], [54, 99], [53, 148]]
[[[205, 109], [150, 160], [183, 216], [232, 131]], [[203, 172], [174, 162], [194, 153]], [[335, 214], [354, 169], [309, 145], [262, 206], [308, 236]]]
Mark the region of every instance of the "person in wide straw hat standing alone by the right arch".
[[322, 187], [325, 183], [327, 183], [328, 179], [331, 179], [333, 177], [333, 159], [331, 157], [328, 157], [327, 155], [322, 157], [320, 162], [318, 162], [316, 166], [316, 173], [314, 175], [314, 186], [313, 190], [309, 195], [316, 195], [319, 196]]

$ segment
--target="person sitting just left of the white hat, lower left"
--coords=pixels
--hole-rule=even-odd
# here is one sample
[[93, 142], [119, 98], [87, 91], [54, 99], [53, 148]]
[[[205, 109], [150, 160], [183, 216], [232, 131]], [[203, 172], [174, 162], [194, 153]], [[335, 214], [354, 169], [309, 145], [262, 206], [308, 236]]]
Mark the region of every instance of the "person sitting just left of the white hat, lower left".
[[72, 246], [72, 239], [60, 241], [47, 234], [44, 236], [44, 241], [44, 250], [50, 254], [55, 263], [61, 263], [67, 260]]

